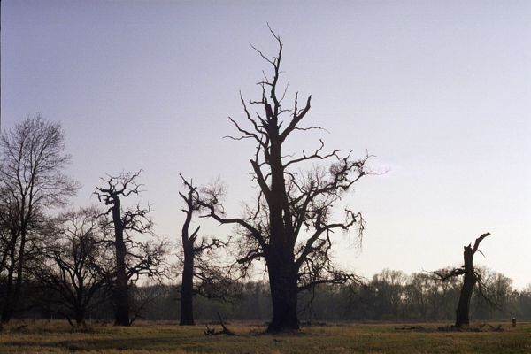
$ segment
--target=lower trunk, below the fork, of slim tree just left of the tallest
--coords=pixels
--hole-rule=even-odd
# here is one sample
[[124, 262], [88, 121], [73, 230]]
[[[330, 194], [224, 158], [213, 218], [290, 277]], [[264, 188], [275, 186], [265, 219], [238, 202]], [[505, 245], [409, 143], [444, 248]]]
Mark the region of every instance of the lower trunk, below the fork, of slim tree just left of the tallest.
[[194, 250], [184, 246], [184, 269], [181, 284], [181, 326], [194, 326]]

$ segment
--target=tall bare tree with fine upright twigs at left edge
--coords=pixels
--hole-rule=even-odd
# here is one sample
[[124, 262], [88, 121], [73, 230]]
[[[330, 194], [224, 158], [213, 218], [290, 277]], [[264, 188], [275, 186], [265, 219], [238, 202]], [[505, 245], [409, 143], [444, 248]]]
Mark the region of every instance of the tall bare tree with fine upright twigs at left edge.
[[17, 309], [32, 227], [50, 208], [67, 204], [78, 186], [65, 175], [70, 156], [58, 123], [28, 117], [0, 137], [0, 190], [7, 256], [2, 322]]

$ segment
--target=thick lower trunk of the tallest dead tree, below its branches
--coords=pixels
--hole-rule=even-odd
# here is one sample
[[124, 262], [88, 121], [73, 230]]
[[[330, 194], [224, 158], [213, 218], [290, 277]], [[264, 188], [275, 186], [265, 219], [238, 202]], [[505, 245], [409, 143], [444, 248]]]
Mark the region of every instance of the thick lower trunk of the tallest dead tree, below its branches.
[[293, 259], [291, 262], [281, 257], [270, 259], [267, 268], [273, 301], [273, 320], [267, 327], [267, 332], [295, 331], [299, 328], [299, 321], [296, 315], [298, 291]]

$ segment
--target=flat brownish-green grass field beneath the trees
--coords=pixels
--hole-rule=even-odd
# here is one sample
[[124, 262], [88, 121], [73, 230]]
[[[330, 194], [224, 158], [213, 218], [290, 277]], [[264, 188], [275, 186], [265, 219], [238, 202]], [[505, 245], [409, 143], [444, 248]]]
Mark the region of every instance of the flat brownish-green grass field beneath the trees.
[[92, 324], [88, 332], [74, 332], [63, 322], [23, 325], [4, 328], [0, 353], [531, 353], [531, 323], [516, 328], [504, 323], [501, 332], [437, 330], [443, 324], [420, 324], [419, 330], [395, 329], [402, 324], [338, 324], [303, 327], [293, 335], [264, 335], [263, 326], [230, 324], [238, 336], [205, 336], [204, 326], [152, 322], [127, 328]]

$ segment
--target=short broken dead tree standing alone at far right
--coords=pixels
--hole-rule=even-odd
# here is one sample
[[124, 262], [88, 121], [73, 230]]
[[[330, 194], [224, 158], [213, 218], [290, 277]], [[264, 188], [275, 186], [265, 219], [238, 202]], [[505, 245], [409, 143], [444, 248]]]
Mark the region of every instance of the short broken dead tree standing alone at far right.
[[473, 266], [473, 255], [478, 251], [481, 253], [481, 250], [479, 250], [480, 243], [489, 235], [490, 233], [486, 233], [476, 238], [475, 242], [473, 242], [473, 246], [472, 244], [464, 246], [465, 250], [463, 251], [463, 266], [446, 271], [434, 272], [441, 278], [442, 281], [447, 281], [450, 278], [464, 275], [463, 286], [459, 295], [458, 308], [456, 310], [456, 327], [463, 327], [470, 323], [470, 300], [472, 299], [473, 289], [476, 284], [478, 285], [478, 291], [480, 292], [480, 295], [483, 295], [481, 274]]

